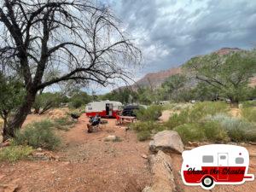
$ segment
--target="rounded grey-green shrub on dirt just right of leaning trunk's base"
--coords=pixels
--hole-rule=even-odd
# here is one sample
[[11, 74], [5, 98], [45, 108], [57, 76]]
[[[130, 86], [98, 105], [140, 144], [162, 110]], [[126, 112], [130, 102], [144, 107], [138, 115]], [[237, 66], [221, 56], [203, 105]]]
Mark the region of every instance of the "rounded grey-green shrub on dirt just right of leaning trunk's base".
[[49, 120], [27, 125], [24, 131], [15, 132], [15, 144], [55, 149], [60, 145], [61, 139], [55, 135], [53, 126], [54, 124]]

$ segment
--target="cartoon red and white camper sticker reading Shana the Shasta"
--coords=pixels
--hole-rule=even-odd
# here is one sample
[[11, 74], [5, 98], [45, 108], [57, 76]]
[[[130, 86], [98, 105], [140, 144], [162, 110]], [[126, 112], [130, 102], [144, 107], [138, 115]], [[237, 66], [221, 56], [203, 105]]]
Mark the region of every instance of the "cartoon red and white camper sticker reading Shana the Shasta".
[[249, 154], [235, 145], [212, 144], [183, 151], [183, 183], [212, 189], [215, 184], [241, 184], [253, 181], [247, 174]]

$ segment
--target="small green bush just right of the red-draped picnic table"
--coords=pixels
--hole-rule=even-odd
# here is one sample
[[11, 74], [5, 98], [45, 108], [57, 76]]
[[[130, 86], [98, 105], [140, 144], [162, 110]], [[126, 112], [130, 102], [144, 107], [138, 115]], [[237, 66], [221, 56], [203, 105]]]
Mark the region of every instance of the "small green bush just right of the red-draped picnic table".
[[148, 108], [140, 108], [136, 111], [137, 119], [142, 121], [157, 120], [161, 116], [162, 106], [153, 105]]

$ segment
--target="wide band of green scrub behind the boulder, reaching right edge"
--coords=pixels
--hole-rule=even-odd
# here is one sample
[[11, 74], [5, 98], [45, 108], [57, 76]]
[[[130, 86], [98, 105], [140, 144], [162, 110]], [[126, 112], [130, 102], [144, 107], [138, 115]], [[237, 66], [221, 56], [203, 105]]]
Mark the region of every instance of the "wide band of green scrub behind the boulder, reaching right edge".
[[197, 102], [194, 105], [185, 104], [186, 107], [181, 105], [175, 107], [172, 104], [174, 113], [164, 123], [148, 118], [147, 113], [152, 108], [143, 109], [143, 113], [138, 111], [141, 114], [140, 121], [131, 124], [132, 130], [137, 131], [138, 140], [150, 139], [158, 131], [173, 130], [182, 137], [183, 143], [256, 141], [255, 108], [242, 108], [242, 116], [237, 118], [231, 116], [230, 105], [225, 102]]

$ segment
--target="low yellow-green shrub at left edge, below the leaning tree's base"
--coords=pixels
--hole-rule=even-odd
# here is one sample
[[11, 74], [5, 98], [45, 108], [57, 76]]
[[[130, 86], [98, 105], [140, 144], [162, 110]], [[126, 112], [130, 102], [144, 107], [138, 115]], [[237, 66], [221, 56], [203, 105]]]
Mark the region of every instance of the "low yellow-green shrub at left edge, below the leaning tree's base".
[[0, 150], [0, 161], [15, 162], [17, 160], [26, 159], [32, 154], [32, 147], [11, 145]]

